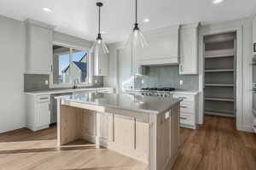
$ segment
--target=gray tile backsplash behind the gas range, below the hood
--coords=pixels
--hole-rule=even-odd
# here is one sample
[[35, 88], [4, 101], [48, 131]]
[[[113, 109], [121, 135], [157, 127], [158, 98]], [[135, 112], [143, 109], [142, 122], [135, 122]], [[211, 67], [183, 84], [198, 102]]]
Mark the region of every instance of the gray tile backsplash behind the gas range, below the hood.
[[[134, 88], [173, 87], [198, 90], [198, 75], [179, 75], [178, 65], [150, 66], [146, 76], [135, 77]], [[183, 85], [180, 85], [180, 80]]]

